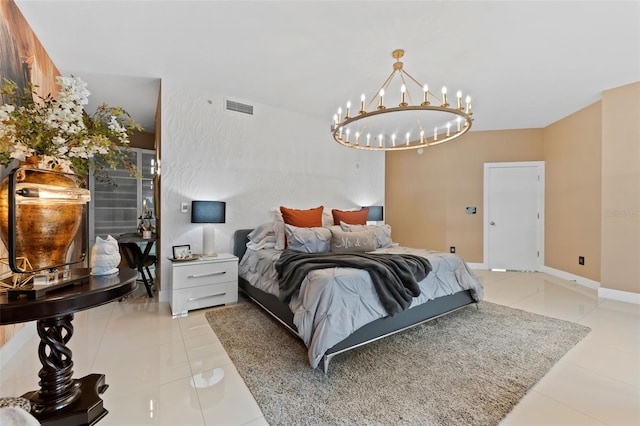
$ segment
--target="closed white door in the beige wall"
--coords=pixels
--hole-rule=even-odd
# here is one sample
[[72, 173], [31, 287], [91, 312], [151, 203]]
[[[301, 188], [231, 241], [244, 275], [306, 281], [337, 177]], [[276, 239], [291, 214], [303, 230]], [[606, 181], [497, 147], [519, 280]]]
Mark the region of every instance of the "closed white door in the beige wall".
[[544, 162], [485, 164], [484, 260], [489, 269], [539, 271]]

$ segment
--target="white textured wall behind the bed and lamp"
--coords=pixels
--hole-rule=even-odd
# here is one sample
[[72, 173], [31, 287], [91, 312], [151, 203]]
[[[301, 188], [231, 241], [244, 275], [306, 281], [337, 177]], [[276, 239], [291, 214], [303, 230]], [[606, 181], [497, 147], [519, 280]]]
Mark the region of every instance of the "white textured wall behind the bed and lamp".
[[[225, 97], [253, 105], [254, 115], [225, 111]], [[338, 145], [329, 132], [331, 114], [318, 120], [163, 80], [162, 276], [169, 276], [172, 246], [202, 249], [202, 227], [180, 212], [184, 201], [189, 208], [196, 199], [226, 201], [227, 221], [216, 225], [218, 252], [231, 251], [236, 229], [268, 221], [272, 207], [382, 204], [384, 154]]]

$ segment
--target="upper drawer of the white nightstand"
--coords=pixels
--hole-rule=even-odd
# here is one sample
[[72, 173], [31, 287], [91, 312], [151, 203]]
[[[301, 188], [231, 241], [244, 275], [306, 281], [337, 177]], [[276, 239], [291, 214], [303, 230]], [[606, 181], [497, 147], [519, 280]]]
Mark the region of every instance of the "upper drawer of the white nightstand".
[[174, 266], [173, 290], [235, 281], [237, 278], [237, 261]]

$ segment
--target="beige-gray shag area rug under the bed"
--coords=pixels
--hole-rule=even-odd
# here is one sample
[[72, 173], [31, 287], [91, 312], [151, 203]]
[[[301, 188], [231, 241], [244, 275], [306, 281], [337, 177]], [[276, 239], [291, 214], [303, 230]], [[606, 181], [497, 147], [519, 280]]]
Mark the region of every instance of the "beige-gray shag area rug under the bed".
[[254, 303], [206, 314], [271, 425], [495, 425], [589, 328], [482, 302], [309, 366]]

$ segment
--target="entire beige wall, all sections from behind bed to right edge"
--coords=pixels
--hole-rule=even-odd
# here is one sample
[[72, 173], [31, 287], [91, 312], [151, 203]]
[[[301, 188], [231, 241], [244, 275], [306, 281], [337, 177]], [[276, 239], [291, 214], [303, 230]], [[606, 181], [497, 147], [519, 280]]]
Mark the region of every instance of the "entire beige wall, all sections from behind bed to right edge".
[[[545, 129], [469, 132], [387, 153], [386, 221], [403, 245], [483, 260], [483, 164], [545, 161], [545, 265], [640, 293], [640, 82]], [[467, 206], [478, 214], [466, 215]], [[578, 257], [585, 257], [585, 265]]]

